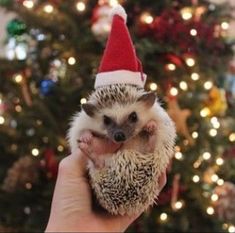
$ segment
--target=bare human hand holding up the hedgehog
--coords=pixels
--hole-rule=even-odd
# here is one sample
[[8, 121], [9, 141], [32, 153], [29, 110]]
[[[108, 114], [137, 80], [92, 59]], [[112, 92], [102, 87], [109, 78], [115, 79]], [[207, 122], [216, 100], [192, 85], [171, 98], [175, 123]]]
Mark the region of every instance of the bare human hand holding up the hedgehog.
[[[99, 153], [113, 153], [117, 150], [115, 145], [108, 143], [107, 146], [107, 141], [97, 137], [92, 139], [89, 146]], [[86, 163], [87, 156], [80, 150], [60, 163], [46, 232], [124, 232], [141, 214], [113, 216], [95, 212], [92, 209]], [[165, 172], [158, 182], [162, 189], [166, 183]]]

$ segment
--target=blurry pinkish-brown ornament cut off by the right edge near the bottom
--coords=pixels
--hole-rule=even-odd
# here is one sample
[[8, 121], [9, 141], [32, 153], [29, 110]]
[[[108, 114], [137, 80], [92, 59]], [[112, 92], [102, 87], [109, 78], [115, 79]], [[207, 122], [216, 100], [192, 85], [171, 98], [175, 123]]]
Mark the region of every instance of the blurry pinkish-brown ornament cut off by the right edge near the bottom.
[[213, 203], [215, 213], [222, 221], [235, 224], [235, 185], [224, 182], [223, 185], [214, 189], [218, 200]]

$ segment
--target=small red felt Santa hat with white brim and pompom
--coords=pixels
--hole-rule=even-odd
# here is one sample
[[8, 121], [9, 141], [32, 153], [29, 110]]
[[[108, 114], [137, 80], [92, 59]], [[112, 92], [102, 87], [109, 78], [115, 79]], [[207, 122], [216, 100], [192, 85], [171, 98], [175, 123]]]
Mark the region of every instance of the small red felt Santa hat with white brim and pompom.
[[126, 26], [127, 14], [118, 5], [112, 16], [112, 28], [96, 75], [95, 88], [121, 83], [143, 88], [147, 76], [142, 71]]

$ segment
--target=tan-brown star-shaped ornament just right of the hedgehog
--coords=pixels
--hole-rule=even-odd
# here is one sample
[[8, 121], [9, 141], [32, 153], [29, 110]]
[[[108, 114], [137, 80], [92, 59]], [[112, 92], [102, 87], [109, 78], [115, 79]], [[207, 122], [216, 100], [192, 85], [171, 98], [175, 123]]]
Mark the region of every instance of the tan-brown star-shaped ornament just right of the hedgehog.
[[168, 97], [167, 103], [167, 113], [175, 122], [177, 132], [184, 136], [190, 144], [193, 144], [194, 140], [189, 133], [187, 126], [187, 119], [191, 115], [191, 111], [189, 109], [180, 109], [178, 101], [175, 97]]

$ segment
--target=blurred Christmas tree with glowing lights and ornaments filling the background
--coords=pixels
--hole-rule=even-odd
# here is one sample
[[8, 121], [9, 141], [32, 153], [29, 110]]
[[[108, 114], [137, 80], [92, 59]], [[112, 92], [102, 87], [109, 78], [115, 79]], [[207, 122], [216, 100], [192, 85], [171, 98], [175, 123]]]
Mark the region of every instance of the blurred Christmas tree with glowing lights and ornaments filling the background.
[[129, 231], [235, 232], [233, 0], [0, 0], [0, 231], [45, 229], [118, 2], [178, 133], [168, 183]]

